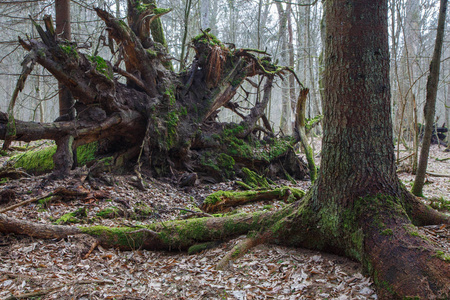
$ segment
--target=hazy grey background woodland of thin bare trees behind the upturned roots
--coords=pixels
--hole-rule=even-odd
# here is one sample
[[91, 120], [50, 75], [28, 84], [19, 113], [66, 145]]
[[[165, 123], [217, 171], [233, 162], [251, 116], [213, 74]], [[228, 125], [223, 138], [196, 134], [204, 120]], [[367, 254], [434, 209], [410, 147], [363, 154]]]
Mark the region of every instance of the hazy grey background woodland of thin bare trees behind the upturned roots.
[[[291, 66], [300, 81], [310, 89], [307, 118], [321, 114], [323, 69], [323, 7], [321, 1], [270, 1], [270, 0], [160, 0], [159, 7], [172, 8], [161, 20], [175, 71], [184, 68], [195, 54], [189, 46], [191, 39], [201, 33], [211, 32], [230, 47], [258, 48], [273, 55], [273, 61]], [[82, 52], [98, 54], [114, 64], [116, 57], [106, 48], [108, 36], [105, 25], [99, 20], [94, 6], [126, 18], [124, 0], [71, 1], [72, 40], [84, 45]], [[405, 145], [413, 141], [414, 122], [423, 123], [425, 86], [436, 35], [438, 1], [389, 1], [389, 34], [391, 55], [391, 89], [396, 139]], [[54, 1], [24, 0], [0, 3], [0, 111], [6, 111], [17, 78], [20, 63], [25, 55], [19, 47], [17, 36], [36, 37], [32, 25], [43, 16], [55, 15]], [[443, 46], [441, 76], [438, 88], [436, 122], [438, 126], [450, 123], [450, 35], [446, 34]], [[278, 81], [272, 90], [271, 104], [266, 115], [273, 128], [291, 133], [293, 109], [298, 86], [290, 75]], [[292, 78], [291, 78], [292, 77]], [[41, 66], [33, 70], [24, 92], [19, 96], [16, 118], [51, 122], [58, 117], [56, 80]], [[235, 97], [240, 107], [250, 107], [248, 101], [256, 98], [255, 88], [246, 83]], [[222, 121], [239, 121], [239, 117], [225, 110], [219, 115]], [[289, 122], [289, 120], [291, 122]], [[399, 130], [403, 128], [403, 130]], [[320, 127], [316, 133], [320, 132]]]

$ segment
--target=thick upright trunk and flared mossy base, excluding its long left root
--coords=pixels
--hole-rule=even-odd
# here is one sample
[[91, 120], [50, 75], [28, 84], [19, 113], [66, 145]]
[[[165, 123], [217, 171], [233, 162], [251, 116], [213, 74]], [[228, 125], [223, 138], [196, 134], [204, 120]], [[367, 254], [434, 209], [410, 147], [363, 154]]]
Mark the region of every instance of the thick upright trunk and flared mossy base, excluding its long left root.
[[274, 236], [361, 261], [383, 299], [448, 297], [450, 265], [437, 257], [434, 245], [414, 235], [410, 219], [428, 224], [449, 218], [408, 194], [395, 172], [387, 1], [335, 0], [325, 6], [319, 178]]

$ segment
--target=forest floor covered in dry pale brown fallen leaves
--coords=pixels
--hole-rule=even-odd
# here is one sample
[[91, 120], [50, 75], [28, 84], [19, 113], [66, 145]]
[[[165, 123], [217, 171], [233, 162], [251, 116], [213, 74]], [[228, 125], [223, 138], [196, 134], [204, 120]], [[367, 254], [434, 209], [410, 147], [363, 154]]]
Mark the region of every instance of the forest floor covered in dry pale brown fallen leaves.
[[[428, 170], [450, 174], [450, 160], [436, 160], [450, 157], [443, 150], [432, 146]], [[189, 212], [180, 209], [196, 211], [208, 194], [237, 189], [234, 182], [180, 189], [170, 179], [146, 179], [148, 187], [142, 191], [136, 188], [133, 175], [105, 174], [102, 182], [94, 184], [83, 182], [82, 174], [82, 169], [75, 170], [71, 178], [45, 186], [45, 175], [4, 182], [0, 190], [13, 190], [16, 199], [0, 205], [0, 209], [58, 187], [82, 189], [88, 193], [70, 201], [61, 199], [47, 207], [33, 203], [6, 214], [54, 224], [64, 214], [80, 212], [81, 208], [86, 213], [78, 216], [82, 224], [132, 226], [186, 218]], [[399, 173], [399, 177], [407, 187], [414, 179], [409, 173]], [[449, 183], [448, 177], [429, 176], [424, 201], [435, 199], [437, 204], [448, 204]], [[305, 190], [310, 186], [309, 181], [294, 185], [281, 180], [277, 184]], [[236, 210], [276, 210], [283, 205], [268, 201]], [[108, 208], [113, 213], [108, 214]], [[430, 226], [421, 231], [450, 249], [449, 226]], [[37, 296], [33, 299], [377, 299], [372, 281], [361, 273], [358, 263], [317, 251], [259, 245], [217, 271], [215, 265], [243, 238], [194, 255], [99, 246], [86, 257], [92, 240], [83, 236], [37, 240], [0, 233], [0, 299], [12, 295], [32, 298], [33, 293]]]

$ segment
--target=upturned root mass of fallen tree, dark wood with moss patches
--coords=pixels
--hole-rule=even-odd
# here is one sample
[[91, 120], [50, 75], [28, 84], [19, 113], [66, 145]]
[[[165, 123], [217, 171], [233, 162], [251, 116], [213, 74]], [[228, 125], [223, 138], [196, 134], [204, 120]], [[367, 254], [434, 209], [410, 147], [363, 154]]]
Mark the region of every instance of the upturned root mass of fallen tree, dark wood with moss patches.
[[[153, 176], [184, 169], [217, 181], [246, 166], [265, 170], [269, 176], [291, 174], [302, 179], [307, 170], [292, 151], [295, 140], [274, 138], [265, 116], [274, 78], [292, 71], [271, 63], [263, 51], [230, 49], [205, 30], [192, 40], [191, 66], [175, 74], [158, 19], [170, 10], [153, 2], [129, 1], [128, 25], [96, 9], [111, 37], [114, 65], [59, 40], [49, 16], [44, 18], [46, 30], [35, 23], [41, 40], [20, 39], [29, 51], [24, 73], [35, 62], [46, 68], [72, 92], [77, 117], [68, 121], [61, 116], [47, 124], [21, 122], [14, 120], [11, 109], [0, 118], [5, 144], [55, 140], [57, 176], [72, 167], [74, 149], [98, 141], [103, 152], [117, 154], [117, 161], [139, 157], [138, 163], [149, 166]], [[119, 75], [126, 84], [119, 82]], [[246, 115], [232, 101], [245, 80], [262, 90]], [[217, 122], [223, 107], [235, 111], [242, 121]]]

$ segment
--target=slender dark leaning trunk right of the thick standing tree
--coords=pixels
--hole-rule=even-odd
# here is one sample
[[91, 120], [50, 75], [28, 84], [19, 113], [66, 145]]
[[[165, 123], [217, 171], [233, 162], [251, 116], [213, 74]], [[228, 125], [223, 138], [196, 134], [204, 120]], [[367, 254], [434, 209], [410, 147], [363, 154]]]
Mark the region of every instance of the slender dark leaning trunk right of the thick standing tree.
[[425, 130], [423, 134], [422, 149], [420, 151], [417, 174], [412, 188], [412, 193], [416, 196], [422, 196], [423, 194], [425, 173], [428, 165], [428, 154], [430, 153], [431, 135], [433, 133], [434, 115], [436, 112], [436, 95], [439, 83], [439, 71], [441, 66], [441, 53], [444, 40], [445, 16], [447, 13], [448, 0], [441, 0], [440, 3], [441, 6], [439, 10], [436, 43], [434, 46], [433, 58], [430, 63], [430, 75], [428, 75], [427, 81], [427, 98], [423, 112], [425, 117]]

